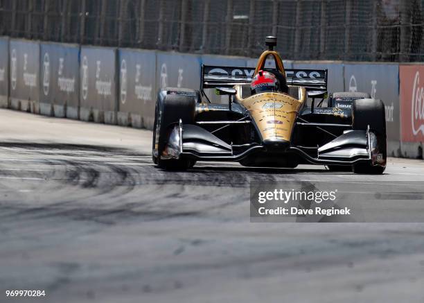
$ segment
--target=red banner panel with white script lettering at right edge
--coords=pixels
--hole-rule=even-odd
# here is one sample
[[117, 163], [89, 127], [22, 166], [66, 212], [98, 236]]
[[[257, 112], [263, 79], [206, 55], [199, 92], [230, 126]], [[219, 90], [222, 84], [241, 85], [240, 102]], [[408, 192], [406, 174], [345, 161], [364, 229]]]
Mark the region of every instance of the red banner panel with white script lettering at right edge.
[[424, 141], [424, 65], [401, 65], [400, 123], [402, 141]]

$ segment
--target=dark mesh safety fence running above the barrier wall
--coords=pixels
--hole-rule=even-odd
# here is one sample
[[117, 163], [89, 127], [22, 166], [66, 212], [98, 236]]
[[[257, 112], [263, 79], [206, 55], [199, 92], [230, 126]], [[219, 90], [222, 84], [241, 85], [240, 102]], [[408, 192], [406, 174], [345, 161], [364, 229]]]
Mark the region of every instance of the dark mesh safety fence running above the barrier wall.
[[290, 60], [424, 60], [424, 0], [1, 0], [0, 35]]

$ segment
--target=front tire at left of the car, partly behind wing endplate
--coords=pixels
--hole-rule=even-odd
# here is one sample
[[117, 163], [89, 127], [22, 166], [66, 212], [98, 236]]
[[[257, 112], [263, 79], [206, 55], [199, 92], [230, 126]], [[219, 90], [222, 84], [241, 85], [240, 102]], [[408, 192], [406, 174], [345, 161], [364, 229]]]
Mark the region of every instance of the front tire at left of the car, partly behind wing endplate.
[[[168, 137], [172, 130], [172, 125], [182, 120], [182, 123], [194, 123], [195, 99], [191, 96], [179, 94], [168, 94], [163, 101], [158, 98], [154, 113], [153, 128], [153, 149], [158, 145], [158, 157], [152, 155], [154, 164], [159, 168], [167, 170], [185, 170], [193, 167], [194, 162], [189, 159], [161, 159], [161, 153], [168, 143]], [[156, 141], [158, 140], [158, 141]]]

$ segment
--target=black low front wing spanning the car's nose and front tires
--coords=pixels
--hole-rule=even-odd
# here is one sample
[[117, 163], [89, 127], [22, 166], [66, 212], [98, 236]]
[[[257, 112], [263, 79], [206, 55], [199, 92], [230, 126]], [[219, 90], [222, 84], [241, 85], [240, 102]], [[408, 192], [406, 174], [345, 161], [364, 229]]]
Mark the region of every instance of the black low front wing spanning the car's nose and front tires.
[[[245, 123], [240, 121], [240, 123]], [[264, 146], [258, 143], [227, 144], [199, 125], [177, 123], [164, 150], [164, 159], [193, 159], [195, 161], [240, 162], [248, 157], [278, 158], [296, 155], [304, 163], [319, 165], [352, 165], [371, 162], [381, 165], [378, 137], [371, 130], [349, 130], [316, 148], [302, 146]]]

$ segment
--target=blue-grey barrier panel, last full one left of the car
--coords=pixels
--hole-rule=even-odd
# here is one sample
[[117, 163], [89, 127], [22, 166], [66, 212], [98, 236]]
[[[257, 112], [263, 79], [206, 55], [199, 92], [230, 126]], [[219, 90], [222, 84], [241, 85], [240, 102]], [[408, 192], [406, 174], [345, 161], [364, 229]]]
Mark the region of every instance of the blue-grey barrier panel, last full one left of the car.
[[120, 49], [118, 58], [118, 124], [134, 128], [149, 127], [152, 125], [149, 115], [156, 101], [156, 53]]

